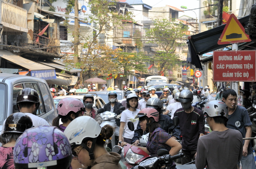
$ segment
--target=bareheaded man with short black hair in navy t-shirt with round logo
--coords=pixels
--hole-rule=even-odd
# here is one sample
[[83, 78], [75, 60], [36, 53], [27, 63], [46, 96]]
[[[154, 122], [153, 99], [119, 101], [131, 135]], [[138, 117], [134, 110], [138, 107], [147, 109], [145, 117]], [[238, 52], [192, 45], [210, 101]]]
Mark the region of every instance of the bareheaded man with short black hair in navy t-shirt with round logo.
[[[252, 137], [252, 122], [247, 110], [242, 106], [236, 105], [236, 91], [233, 89], [225, 90], [222, 96], [223, 102], [225, 102], [228, 107], [227, 127], [239, 130], [243, 138]], [[256, 168], [250, 140], [243, 140], [243, 156], [241, 163], [243, 168]], [[238, 165], [240, 166], [240, 162]]]

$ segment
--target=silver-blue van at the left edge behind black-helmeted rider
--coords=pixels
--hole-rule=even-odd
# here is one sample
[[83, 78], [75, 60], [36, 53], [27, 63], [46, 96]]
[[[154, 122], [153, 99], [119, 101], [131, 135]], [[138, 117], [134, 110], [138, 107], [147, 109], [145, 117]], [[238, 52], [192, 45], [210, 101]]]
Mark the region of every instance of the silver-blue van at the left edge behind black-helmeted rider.
[[47, 82], [41, 78], [4, 73], [0, 73], [0, 125], [3, 125], [9, 115], [19, 112], [16, 99], [20, 90], [24, 88], [33, 88], [37, 91], [40, 105], [36, 115], [51, 125], [58, 114]]

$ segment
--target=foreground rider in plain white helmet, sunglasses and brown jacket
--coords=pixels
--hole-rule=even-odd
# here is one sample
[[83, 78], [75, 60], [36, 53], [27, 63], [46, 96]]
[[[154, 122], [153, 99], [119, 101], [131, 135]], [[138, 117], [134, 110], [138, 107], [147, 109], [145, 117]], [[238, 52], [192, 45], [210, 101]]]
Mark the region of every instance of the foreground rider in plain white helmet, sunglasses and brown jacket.
[[[80, 126], [77, 127], [77, 124]], [[69, 138], [73, 159], [77, 159], [80, 164], [91, 166], [91, 169], [121, 169], [121, 156], [116, 152], [108, 152], [104, 147], [105, 140], [113, 133], [110, 125], [101, 128], [100, 124], [89, 116], [76, 118], [64, 131]]]

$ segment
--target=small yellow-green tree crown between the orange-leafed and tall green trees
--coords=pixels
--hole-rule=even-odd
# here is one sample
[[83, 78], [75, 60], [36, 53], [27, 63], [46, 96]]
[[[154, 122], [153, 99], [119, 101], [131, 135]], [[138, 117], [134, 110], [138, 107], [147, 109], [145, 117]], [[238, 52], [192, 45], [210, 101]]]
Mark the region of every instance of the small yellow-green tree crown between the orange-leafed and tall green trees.
[[145, 61], [148, 60], [148, 58], [143, 53], [118, 52], [114, 56], [114, 60], [118, 67], [123, 70], [124, 77], [133, 75], [131, 70], [140, 71], [142, 73], [147, 72]]

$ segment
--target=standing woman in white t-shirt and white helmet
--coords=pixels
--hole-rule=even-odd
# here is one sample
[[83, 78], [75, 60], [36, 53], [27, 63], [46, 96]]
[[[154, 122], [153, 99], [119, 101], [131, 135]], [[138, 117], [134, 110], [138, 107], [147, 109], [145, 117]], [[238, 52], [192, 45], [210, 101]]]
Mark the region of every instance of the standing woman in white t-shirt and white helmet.
[[[139, 118], [135, 119], [135, 116], [139, 113], [138, 107], [138, 96], [134, 93], [131, 93], [126, 98], [127, 108], [122, 112], [120, 119], [120, 130], [119, 130], [119, 141], [124, 141], [126, 143], [132, 142], [132, 137], [134, 135], [134, 131], [129, 130], [128, 122], [132, 122], [134, 124], [134, 128], [137, 128]], [[124, 136], [123, 136], [124, 133]]]

